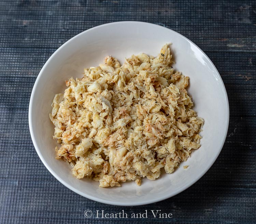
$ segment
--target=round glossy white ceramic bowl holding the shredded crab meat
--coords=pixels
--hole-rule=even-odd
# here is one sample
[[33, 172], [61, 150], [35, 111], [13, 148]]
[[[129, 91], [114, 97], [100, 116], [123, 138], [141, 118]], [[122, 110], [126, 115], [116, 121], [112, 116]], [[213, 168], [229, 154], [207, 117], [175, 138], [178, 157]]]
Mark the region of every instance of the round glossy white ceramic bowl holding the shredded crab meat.
[[[106, 55], [121, 63], [125, 57], [144, 52], [157, 56], [161, 47], [172, 42], [174, 69], [190, 77], [188, 93], [194, 109], [204, 118], [201, 147], [172, 174], [161, 174], [142, 185], [122, 183], [121, 187], [99, 188], [90, 179], [76, 179], [71, 167], [55, 159], [54, 126], [48, 114], [56, 93], [65, 90], [65, 80], [82, 77], [84, 67], [97, 66]], [[227, 93], [217, 69], [194, 43], [181, 34], [151, 23], [114, 22], [86, 30], [63, 44], [43, 66], [35, 81], [29, 103], [29, 129], [37, 153], [52, 175], [63, 185], [84, 197], [112, 205], [144, 205], [161, 201], [193, 185], [219, 155], [228, 130]], [[183, 165], [189, 165], [187, 170]]]

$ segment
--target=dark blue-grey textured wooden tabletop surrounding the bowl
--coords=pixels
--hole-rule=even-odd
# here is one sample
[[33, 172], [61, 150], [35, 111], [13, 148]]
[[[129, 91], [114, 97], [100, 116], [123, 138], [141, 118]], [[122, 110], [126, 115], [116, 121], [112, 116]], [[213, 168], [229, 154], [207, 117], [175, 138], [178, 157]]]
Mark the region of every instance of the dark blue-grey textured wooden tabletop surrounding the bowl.
[[[156, 23], [191, 39], [217, 67], [230, 106], [223, 150], [197, 183], [165, 201], [125, 208], [91, 201], [61, 185], [37, 156], [28, 128], [30, 93], [49, 56], [74, 35], [121, 20]], [[253, 1], [1, 0], [0, 223], [109, 221], [86, 219], [86, 209], [161, 209], [176, 223], [256, 223], [255, 52]], [[166, 222], [137, 220], [161, 221]]]

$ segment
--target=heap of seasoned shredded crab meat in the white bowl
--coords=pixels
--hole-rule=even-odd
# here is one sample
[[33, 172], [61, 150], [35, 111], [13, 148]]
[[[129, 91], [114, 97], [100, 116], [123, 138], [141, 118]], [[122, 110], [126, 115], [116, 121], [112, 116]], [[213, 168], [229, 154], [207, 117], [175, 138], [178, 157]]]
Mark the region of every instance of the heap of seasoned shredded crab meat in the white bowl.
[[203, 119], [192, 109], [189, 77], [172, 63], [166, 44], [156, 58], [141, 53], [120, 66], [107, 56], [104, 64], [84, 69], [83, 78], [67, 80], [49, 114], [53, 138], [61, 143], [56, 158], [100, 187], [130, 180], [140, 186], [143, 177], [174, 172], [200, 147]]

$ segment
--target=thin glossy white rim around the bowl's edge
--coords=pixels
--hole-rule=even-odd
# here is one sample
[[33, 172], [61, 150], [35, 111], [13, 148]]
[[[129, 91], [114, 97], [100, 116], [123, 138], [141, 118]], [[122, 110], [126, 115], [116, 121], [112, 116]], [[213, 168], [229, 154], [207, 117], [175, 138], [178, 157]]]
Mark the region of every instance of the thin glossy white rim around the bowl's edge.
[[[46, 160], [43, 158], [42, 154], [40, 153], [40, 149], [38, 147], [38, 144], [35, 140], [35, 137], [34, 137], [34, 132], [33, 132], [33, 128], [32, 128], [32, 106], [33, 106], [33, 99], [34, 99], [34, 94], [35, 94], [35, 91], [37, 89], [37, 86], [39, 84], [39, 79], [40, 77], [42, 76], [43, 74], [43, 71], [45, 69], [45, 67], [48, 65], [49, 61], [52, 60], [52, 58], [55, 56], [55, 54], [61, 49], [63, 48], [66, 44], [68, 44], [69, 42], [73, 41], [75, 38], [77, 38], [78, 36], [80, 35], [83, 35], [85, 34], [86, 32], [89, 32], [93, 29], [99, 29], [101, 27], [105, 27], [105, 26], [109, 26], [109, 25], [115, 25], [115, 24], [120, 24], [120, 23], [133, 23], [134, 25], [137, 25], [137, 24], [147, 24], [147, 25], [151, 25], [153, 27], [161, 27], [162, 29], [168, 29], [168, 30], [171, 30], [172, 32], [176, 33], [177, 35], [179, 35], [181, 38], [184, 38], [186, 39], [186, 41], [188, 41], [190, 44], [193, 44], [194, 46], [197, 47], [197, 49], [199, 49], [201, 51], [201, 53], [205, 56], [205, 58], [210, 62], [210, 64], [213, 66], [213, 68], [215, 69], [217, 75], [218, 75], [218, 78], [220, 80], [220, 83], [221, 83], [221, 87], [222, 89], [224, 90], [224, 93], [225, 93], [225, 101], [226, 101], [226, 110], [227, 110], [227, 123], [226, 123], [226, 130], [225, 130], [225, 135], [223, 135], [223, 138], [222, 138], [222, 142], [220, 144], [220, 147], [218, 148], [218, 151], [217, 153], [215, 154], [215, 157], [214, 159], [212, 160], [212, 162], [210, 162], [208, 164], [207, 167], [205, 167], [203, 169], [203, 171], [197, 176], [197, 178], [195, 178], [193, 181], [191, 181], [188, 185], [180, 188], [180, 189], [177, 189], [176, 191], [170, 193], [170, 194], [167, 194], [166, 196], [163, 196], [163, 197], [159, 197], [157, 199], [148, 199], [148, 200], [144, 200], [144, 201], [134, 201], [134, 202], [112, 202], [112, 201], [108, 201], [106, 199], [101, 199], [101, 198], [98, 198], [98, 197], [95, 197], [93, 195], [89, 195], [89, 194], [86, 194], [84, 192], [81, 192], [79, 190], [77, 190], [76, 188], [72, 187], [71, 185], [69, 185], [67, 182], [65, 182], [64, 180], [62, 180], [56, 173], [54, 170], [51, 169], [50, 165], [46, 162]], [[221, 78], [221, 76], [219, 75], [219, 72], [218, 70], [216, 69], [216, 67], [214, 66], [214, 64], [212, 63], [212, 61], [209, 59], [209, 57], [196, 45], [194, 44], [192, 41], [190, 41], [187, 37], [183, 36], [182, 34], [172, 30], [172, 29], [169, 29], [167, 27], [163, 27], [163, 26], [160, 26], [160, 25], [156, 25], [154, 23], [148, 23], [148, 22], [141, 22], [141, 21], [119, 21], [119, 22], [110, 22], [110, 23], [105, 23], [105, 24], [102, 24], [102, 25], [99, 25], [99, 26], [96, 26], [96, 27], [93, 27], [93, 28], [90, 28], [88, 30], [85, 30], [77, 35], [75, 35], [74, 37], [72, 37], [71, 39], [69, 39], [67, 42], [65, 42], [64, 44], [62, 44], [52, 55], [51, 57], [49, 57], [49, 59], [45, 62], [45, 64], [43, 65], [42, 69], [40, 70], [38, 76], [37, 76], [37, 79], [35, 80], [35, 83], [33, 85], [33, 89], [32, 89], [32, 92], [31, 92], [31, 96], [30, 96], [30, 101], [29, 101], [29, 109], [28, 109], [28, 122], [29, 122], [29, 131], [30, 131], [30, 135], [31, 135], [31, 139], [32, 139], [32, 142], [33, 142], [33, 145], [34, 145], [34, 148], [35, 150], [37, 151], [37, 154], [40, 158], [40, 160], [42, 161], [42, 163], [44, 164], [44, 166], [47, 168], [47, 170], [59, 181], [61, 182], [64, 186], [66, 186], [67, 188], [69, 188], [70, 190], [72, 190], [73, 192], [83, 196], [83, 197], [86, 197], [86, 198], [89, 198], [93, 201], [96, 201], [96, 202], [100, 202], [100, 203], [104, 203], [104, 204], [110, 204], [110, 205], [117, 205], [117, 206], [139, 206], [139, 205], [146, 205], [146, 204], [151, 204], [151, 203], [155, 203], [155, 202], [159, 202], [159, 201], [162, 201], [162, 200], [165, 200], [167, 198], [170, 198], [176, 194], [179, 194], [181, 193], [182, 191], [186, 190], [187, 188], [189, 188], [190, 186], [192, 186], [195, 182], [197, 182], [209, 169], [210, 167], [213, 165], [213, 163], [216, 161], [219, 153], [221, 152], [222, 148], [223, 148], [223, 145], [225, 143], [225, 140], [226, 140], [226, 136], [227, 136], [227, 132], [228, 132], [228, 125], [229, 125], [229, 102], [228, 102], [228, 96], [227, 96], [227, 92], [226, 92], [226, 89], [225, 89], [225, 85], [223, 83], [223, 80]]]

